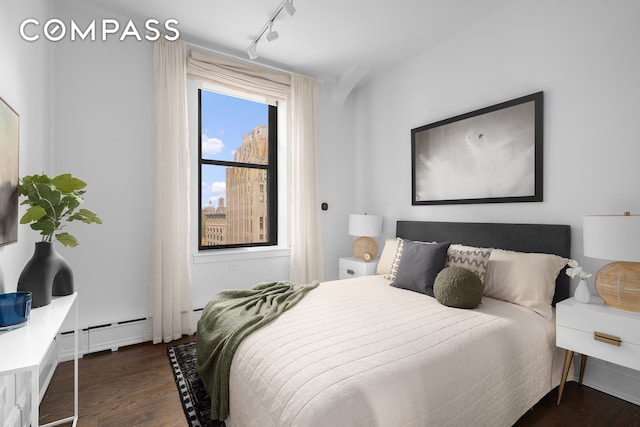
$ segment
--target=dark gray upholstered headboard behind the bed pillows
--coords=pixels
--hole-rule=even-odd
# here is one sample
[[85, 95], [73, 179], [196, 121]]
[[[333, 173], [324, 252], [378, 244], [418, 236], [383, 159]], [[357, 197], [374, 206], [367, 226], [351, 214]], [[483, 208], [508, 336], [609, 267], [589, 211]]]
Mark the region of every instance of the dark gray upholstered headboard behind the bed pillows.
[[[398, 221], [396, 236], [571, 258], [571, 227], [554, 224]], [[553, 304], [569, 298], [569, 276], [558, 275]]]

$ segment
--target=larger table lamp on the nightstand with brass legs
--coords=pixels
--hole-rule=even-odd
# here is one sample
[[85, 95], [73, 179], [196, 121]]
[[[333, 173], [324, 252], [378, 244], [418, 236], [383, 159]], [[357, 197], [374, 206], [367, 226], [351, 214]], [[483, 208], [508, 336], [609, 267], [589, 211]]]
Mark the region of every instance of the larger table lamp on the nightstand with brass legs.
[[595, 277], [596, 292], [608, 306], [640, 312], [640, 215], [583, 218], [584, 255], [616, 260]]

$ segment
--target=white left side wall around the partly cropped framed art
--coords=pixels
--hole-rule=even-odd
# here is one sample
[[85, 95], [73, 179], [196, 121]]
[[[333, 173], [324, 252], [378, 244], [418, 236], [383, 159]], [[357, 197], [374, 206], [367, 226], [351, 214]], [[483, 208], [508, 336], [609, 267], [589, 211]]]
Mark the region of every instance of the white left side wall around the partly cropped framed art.
[[[20, 175], [40, 173], [52, 165], [52, 55], [47, 45], [23, 41], [18, 28], [26, 18], [49, 16], [51, 5], [10, 0], [1, 8], [0, 97], [20, 115]], [[0, 292], [15, 292], [37, 240], [35, 232], [20, 226], [18, 242], [0, 247]], [[28, 425], [27, 381], [26, 374], [0, 377], [0, 426]]]

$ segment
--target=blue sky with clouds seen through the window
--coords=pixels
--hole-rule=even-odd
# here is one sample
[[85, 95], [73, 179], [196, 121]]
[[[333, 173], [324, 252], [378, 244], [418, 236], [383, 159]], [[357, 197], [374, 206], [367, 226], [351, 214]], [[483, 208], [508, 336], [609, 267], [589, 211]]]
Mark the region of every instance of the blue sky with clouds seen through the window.
[[[230, 160], [242, 145], [242, 137], [258, 125], [267, 125], [266, 104], [202, 90], [202, 157]], [[218, 206], [225, 197], [225, 168], [205, 165], [202, 169], [202, 206]], [[225, 202], [226, 203], [226, 202]]]

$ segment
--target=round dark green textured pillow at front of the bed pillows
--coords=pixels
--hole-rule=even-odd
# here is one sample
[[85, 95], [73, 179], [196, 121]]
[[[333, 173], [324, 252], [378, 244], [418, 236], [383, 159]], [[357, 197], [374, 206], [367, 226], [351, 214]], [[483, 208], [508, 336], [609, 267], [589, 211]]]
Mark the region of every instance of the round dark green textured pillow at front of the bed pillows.
[[434, 296], [448, 307], [476, 308], [482, 302], [483, 292], [480, 277], [462, 267], [445, 267], [433, 284]]

